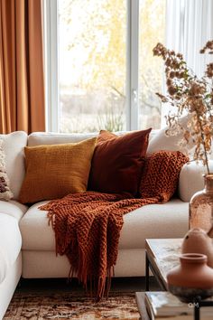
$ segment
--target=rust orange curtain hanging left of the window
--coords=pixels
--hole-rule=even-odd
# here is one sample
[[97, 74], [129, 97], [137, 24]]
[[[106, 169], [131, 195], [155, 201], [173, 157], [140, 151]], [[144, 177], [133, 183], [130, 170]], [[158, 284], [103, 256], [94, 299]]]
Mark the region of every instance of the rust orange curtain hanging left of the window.
[[42, 0], [0, 0], [0, 133], [45, 130]]

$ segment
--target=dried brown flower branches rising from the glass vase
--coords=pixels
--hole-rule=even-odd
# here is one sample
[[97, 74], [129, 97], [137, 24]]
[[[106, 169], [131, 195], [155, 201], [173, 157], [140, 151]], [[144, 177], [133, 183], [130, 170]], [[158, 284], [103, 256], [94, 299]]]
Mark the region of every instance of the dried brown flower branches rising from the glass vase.
[[[208, 41], [200, 53], [213, 53], [213, 40]], [[165, 66], [167, 95], [156, 93], [163, 103], [170, 103], [167, 116], [171, 136], [182, 132], [182, 144], [195, 146], [193, 158], [208, 166], [208, 154], [213, 136], [213, 63], [207, 65], [205, 75], [198, 77], [188, 68], [181, 53], [166, 49], [162, 43], [153, 48], [153, 55], [162, 57]], [[187, 128], [181, 127], [180, 118], [190, 114]]]

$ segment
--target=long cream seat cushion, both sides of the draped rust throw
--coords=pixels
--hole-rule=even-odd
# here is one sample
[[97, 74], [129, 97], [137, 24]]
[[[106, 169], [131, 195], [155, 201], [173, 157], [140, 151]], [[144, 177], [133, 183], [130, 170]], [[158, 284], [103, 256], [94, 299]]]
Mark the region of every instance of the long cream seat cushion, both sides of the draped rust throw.
[[[34, 204], [20, 222], [23, 249], [54, 250], [54, 231], [48, 224], [47, 212]], [[119, 249], [143, 249], [146, 238], [180, 238], [189, 226], [189, 203], [171, 200], [164, 204], [150, 204], [126, 213]]]

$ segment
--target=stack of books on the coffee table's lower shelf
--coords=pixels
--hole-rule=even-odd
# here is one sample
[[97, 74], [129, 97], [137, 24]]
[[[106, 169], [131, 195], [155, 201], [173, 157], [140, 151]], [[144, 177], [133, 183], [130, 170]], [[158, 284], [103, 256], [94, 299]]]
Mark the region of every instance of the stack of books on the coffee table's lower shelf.
[[[212, 298], [213, 301], [213, 298]], [[193, 320], [193, 303], [182, 303], [170, 292], [159, 291], [145, 292], [144, 303], [147, 314], [151, 320]], [[200, 320], [213, 320], [213, 306], [202, 306], [200, 308]]]

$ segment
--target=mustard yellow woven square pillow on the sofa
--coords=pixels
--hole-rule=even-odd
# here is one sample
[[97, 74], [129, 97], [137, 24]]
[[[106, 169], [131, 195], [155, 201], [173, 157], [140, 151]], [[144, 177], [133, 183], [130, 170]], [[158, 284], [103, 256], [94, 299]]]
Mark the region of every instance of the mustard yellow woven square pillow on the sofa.
[[20, 202], [61, 198], [87, 190], [96, 137], [63, 145], [26, 146]]

